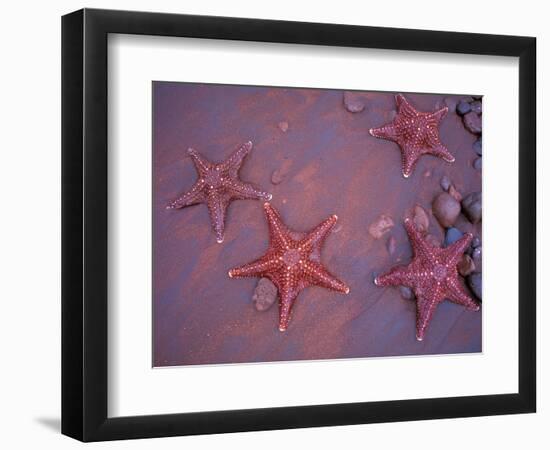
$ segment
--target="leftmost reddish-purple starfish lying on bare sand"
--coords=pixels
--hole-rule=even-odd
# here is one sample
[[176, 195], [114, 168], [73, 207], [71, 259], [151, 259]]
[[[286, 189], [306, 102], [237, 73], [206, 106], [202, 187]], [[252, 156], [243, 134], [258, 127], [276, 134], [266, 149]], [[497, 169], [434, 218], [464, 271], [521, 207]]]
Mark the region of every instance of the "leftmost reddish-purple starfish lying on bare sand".
[[251, 149], [252, 142], [248, 141], [220, 164], [208, 161], [192, 148], [188, 149], [187, 153], [195, 164], [199, 179], [189, 191], [170, 202], [166, 208], [179, 209], [198, 203], [206, 203], [210, 213], [210, 222], [216, 233], [216, 240], [218, 243], [222, 243], [226, 210], [233, 200], [271, 200], [271, 194], [260, 191], [252, 184], [245, 183], [239, 178], [239, 169]]

